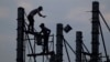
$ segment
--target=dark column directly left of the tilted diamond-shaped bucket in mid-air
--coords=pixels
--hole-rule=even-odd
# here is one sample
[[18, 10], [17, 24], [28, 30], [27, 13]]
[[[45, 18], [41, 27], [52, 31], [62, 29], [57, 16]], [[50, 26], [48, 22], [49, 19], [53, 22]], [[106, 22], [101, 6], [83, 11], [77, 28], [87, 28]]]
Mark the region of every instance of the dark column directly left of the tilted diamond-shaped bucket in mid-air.
[[58, 23], [56, 30], [56, 62], [63, 62], [63, 24]]

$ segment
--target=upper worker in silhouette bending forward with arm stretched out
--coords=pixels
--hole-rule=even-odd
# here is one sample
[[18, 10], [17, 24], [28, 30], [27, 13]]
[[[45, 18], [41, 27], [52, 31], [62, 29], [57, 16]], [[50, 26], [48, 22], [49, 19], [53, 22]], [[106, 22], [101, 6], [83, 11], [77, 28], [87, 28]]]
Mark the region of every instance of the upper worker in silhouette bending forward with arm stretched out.
[[43, 11], [43, 7], [38, 7], [37, 9], [32, 10], [29, 16], [29, 31], [34, 31], [34, 16], [37, 13], [40, 17], [45, 18], [46, 16], [43, 16], [41, 13], [41, 11]]

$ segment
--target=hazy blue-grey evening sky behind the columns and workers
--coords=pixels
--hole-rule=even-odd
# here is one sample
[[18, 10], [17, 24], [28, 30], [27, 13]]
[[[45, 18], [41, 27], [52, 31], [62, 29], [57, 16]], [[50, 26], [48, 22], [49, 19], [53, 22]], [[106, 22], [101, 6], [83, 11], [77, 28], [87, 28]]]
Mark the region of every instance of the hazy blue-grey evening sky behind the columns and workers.
[[[65, 39], [75, 50], [76, 31], [82, 31], [84, 42], [90, 50], [91, 45], [91, 2], [95, 0], [0, 0], [0, 62], [15, 62], [16, 59], [16, 19], [18, 8], [23, 7], [25, 13], [38, 6], [43, 7], [42, 13], [46, 18], [35, 16], [35, 29], [40, 31], [38, 25], [43, 22], [56, 32], [56, 24], [70, 24], [73, 30], [65, 34]], [[110, 0], [97, 0], [100, 2], [100, 11], [110, 25]], [[25, 18], [26, 19], [26, 18]], [[28, 21], [26, 21], [28, 22]], [[109, 40], [110, 32], [107, 30], [103, 21], [102, 29], [105, 33], [107, 50], [110, 52]], [[100, 52], [103, 52], [100, 41]], [[108, 53], [110, 55], [110, 53]], [[103, 53], [105, 55], [105, 53]], [[65, 61], [65, 60], [64, 60]], [[75, 61], [75, 59], [73, 60]]]

